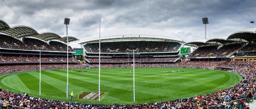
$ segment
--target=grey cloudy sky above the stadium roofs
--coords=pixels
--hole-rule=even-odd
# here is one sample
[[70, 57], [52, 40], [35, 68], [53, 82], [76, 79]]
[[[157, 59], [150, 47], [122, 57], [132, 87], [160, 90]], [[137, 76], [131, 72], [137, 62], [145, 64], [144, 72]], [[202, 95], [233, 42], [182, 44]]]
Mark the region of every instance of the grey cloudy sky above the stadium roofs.
[[98, 34], [100, 22], [101, 32], [143, 27], [193, 41], [204, 38], [204, 16], [208, 38], [252, 27], [255, 5], [256, 0], [0, 0], [0, 19], [11, 27], [65, 35], [63, 20], [69, 17], [69, 35], [80, 39], [72, 47]]

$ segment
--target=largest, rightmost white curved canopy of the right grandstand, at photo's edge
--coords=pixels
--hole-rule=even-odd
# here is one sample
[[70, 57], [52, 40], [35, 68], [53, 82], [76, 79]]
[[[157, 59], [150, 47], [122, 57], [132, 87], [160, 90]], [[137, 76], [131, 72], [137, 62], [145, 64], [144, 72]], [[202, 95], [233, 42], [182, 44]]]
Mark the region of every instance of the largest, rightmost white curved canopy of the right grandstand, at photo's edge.
[[251, 27], [247, 29], [240, 30], [238, 32], [232, 33], [227, 38], [228, 40], [232, 41], [239, 41], [239, 42], [252, 42], [256, 40], [256, 28]]

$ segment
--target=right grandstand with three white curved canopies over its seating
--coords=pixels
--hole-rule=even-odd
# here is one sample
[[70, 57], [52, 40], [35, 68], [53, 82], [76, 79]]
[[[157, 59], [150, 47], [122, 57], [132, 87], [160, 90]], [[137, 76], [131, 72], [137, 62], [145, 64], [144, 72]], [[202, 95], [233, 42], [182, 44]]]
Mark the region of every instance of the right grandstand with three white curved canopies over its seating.
[[187, 58], [190, 60], [255, 61], [255, 32], [251, 27], [230, 35], [212, 39], [198, 39], [184, 45], [195, 48]]

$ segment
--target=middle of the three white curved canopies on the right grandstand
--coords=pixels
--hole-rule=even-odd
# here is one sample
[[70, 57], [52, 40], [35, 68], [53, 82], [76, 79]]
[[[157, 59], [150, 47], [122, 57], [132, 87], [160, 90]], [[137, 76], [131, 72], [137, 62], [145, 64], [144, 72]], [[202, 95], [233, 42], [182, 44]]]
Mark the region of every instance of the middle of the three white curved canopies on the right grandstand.
[[216, 44], [216, 45], [225, 45], [225, 44], [234, 42], [232, 40], [226, 40], [226, 38], [228, 38], [228, 36], [223, 35], [223, 36], [220, 36], [217, 38], [209, 39], [208, 41], [206, 41], [206, 43], [211, 43], [211, 44]]

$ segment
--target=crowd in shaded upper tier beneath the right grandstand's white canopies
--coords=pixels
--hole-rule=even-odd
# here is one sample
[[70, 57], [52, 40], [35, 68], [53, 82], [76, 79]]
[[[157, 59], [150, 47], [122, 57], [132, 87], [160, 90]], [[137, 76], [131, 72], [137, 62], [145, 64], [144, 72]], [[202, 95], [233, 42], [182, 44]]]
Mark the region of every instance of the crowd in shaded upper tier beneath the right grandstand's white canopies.
[[197, 48], [189, 57], [225, 57], [240, 47], [241, 45], [239, 44], [224, 45], [219, 49], [217, 46], [203, 46]]

